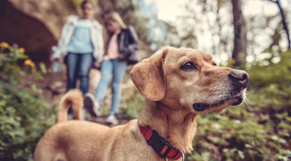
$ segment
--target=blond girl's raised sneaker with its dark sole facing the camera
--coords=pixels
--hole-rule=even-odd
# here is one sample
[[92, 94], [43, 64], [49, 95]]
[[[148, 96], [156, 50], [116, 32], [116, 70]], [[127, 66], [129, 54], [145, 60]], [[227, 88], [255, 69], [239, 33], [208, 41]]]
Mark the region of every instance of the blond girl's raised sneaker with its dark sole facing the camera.
[[84, 106], [91, 116], [96, 117], [101, 115], [101, 103], [99, 100], [95, 100], [93, 94], [86, 93], [84, 95]]

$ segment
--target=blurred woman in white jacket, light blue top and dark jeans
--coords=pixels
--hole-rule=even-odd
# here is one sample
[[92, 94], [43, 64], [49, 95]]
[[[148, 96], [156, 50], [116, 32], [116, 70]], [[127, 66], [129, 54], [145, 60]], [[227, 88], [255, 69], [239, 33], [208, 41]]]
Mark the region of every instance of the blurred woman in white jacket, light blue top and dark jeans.
[[[70, 15], [63, 26], [58, 48], [51, 60], [64, 58], [67, 65], [67, 91], [76, 88], [77, 78], [80, 79], [80, 89], [83, 94], [88, 92], [89, 71], [91, 67], [99, 66], [103, 59], [102, 25], [94, 19], [95, 6], [92, 1], [83, 1], [82, 15]], [[83, 115], [85, 116], [83, 110]], [[69, 109], [72, 117], [72, 110]], [[84, 117], [83, 117], [84, 119]]]

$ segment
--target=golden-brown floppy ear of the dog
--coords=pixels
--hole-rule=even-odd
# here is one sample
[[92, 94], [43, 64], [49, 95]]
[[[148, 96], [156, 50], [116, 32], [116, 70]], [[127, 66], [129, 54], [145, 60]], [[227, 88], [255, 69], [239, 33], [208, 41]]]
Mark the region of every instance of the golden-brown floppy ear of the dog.
[[150, 58], [134, 65], [130, 77], [145, 98], [153, 101], [162, 100], [166, 93], [166, 73], [164, 58], [168, 49], [157, 51]]

